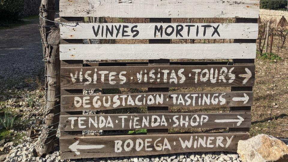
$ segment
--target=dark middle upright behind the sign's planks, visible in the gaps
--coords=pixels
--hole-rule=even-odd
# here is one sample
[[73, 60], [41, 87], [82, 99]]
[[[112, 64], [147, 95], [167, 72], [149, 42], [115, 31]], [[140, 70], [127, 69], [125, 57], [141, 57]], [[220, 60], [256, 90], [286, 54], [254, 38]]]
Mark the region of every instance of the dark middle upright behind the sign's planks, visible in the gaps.
[[[171, 22], [171, 18], [150, 18], [150, 22]], [[149, 39], [149, 44], [170, 44], [170, 39]], [[169, 59], [149, 60], [149, 66], [169, 65]], [[169, 88], [148, 88], [148, 92], [169, 92]], [[147, 113], [168, 113], [168, 107], [147, 107]], [[168, 129], [148, 129], [147, 134], [168, 134]]]

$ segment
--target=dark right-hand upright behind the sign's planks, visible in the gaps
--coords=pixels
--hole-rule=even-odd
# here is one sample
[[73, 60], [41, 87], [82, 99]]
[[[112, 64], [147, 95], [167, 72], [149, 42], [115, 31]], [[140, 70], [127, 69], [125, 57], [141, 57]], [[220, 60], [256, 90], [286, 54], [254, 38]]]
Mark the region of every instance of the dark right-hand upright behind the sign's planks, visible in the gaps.
[[[236, 18], [235, 23], [257, 23], [257, 19]], [[256, 43], [256, 39], [234, 39], [234, 43]], [[254, 64], [254, 59], [233, 59], [233, 64]], [[231, 91], [252, 91], [253, 87], [231, 87]], [[250, 106], [230, 107], [231, 113], [250, 113]], [[229, 128], [229, 133], [249, 132], [250, 128]]]

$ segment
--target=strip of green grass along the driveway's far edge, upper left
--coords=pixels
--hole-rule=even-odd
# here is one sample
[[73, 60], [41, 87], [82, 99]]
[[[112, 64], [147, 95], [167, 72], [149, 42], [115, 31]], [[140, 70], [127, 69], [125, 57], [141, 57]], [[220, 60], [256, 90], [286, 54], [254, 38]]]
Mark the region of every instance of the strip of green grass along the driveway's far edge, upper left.
[[23, 17], [21, 20], [7, 20], [0, 23], [0, 30], [12, 29], [18, 26], [27, 25], [31, 23], [31, 20], [39, 19], [38, 15], [31, 15]]

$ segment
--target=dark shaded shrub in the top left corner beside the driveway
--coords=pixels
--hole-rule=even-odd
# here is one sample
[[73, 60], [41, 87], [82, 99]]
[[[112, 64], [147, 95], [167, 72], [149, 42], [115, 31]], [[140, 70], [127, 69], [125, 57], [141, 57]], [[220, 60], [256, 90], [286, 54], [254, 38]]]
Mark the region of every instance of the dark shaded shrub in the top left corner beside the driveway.
[[23, 8], [24, 0], [0, 0], [0, 22], [20, 19], [19, 13]]

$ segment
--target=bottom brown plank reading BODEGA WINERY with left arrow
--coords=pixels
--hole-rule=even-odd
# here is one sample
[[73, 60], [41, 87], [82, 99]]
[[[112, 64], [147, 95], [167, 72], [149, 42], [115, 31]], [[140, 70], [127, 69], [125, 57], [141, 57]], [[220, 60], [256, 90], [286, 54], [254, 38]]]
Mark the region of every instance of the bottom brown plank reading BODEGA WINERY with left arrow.
[[61, 159], [146, 156], [180, 152], [236, 152], [247, 133], [60, 137]]

